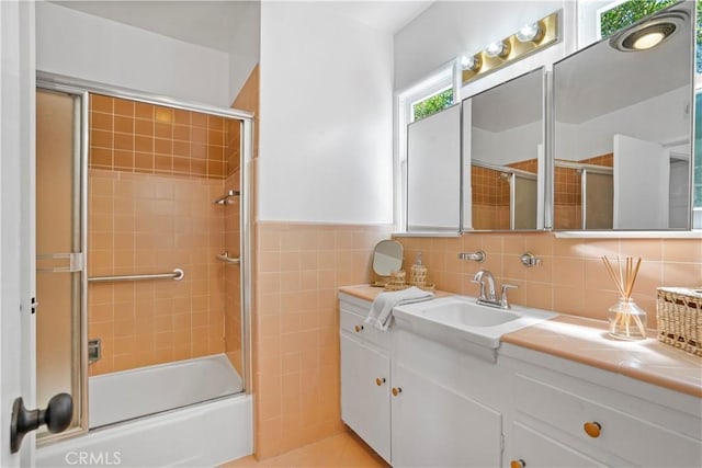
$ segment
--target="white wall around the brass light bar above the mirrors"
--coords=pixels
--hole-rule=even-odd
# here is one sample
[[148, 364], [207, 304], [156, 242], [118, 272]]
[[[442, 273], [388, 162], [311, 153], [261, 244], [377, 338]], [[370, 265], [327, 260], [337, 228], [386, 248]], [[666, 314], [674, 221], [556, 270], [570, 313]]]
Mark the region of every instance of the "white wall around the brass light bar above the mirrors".
[[575, 50], [575, 0], [438, 1], [395, 35], [395, 89], [403, 90], [465, 53], [475, 54], [524, 24], [563, 9], [561, 37], [550, 48], [476, 80], [462, 98], [550, 66]]

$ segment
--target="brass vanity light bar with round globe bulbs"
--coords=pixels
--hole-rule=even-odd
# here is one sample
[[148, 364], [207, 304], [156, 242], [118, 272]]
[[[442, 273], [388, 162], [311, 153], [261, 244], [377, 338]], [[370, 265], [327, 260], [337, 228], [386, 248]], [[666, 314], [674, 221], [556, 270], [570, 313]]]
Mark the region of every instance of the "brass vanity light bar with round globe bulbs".
[[558, 42], [558, 14], [555, 12], [526, 24], [518, 32], [489, 44], [477, 54], [460, 57], [462, 79], [466, 82], [512, 64]]

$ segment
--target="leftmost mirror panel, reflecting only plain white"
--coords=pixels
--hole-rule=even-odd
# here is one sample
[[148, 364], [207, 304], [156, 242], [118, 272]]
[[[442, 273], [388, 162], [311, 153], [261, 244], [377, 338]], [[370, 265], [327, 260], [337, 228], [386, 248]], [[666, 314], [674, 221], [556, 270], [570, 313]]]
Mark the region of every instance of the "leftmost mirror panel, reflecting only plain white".
[[407, 231], [458, 232], [461, 106], [407, 126]]

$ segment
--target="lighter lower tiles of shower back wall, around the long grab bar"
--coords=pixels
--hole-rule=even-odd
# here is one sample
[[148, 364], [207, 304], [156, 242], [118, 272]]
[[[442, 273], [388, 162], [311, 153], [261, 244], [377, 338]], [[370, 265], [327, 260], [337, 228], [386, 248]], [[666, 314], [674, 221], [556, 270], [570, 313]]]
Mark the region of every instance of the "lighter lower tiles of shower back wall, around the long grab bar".
[[222, 180], [89, 172], [90, 276], [184, 271], [184, 278], [89, 285], [90, 375], [225, 351]]

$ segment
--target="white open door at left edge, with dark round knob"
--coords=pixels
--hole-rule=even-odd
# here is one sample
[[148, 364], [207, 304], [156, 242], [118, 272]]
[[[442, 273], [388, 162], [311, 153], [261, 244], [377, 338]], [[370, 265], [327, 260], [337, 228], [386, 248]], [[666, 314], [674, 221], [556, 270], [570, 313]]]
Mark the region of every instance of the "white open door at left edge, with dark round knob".
[[13, 402], [35, 408], [34, 4], [0, 2], [0, 466], [34, 465], [34, 435], [10, 449]]

